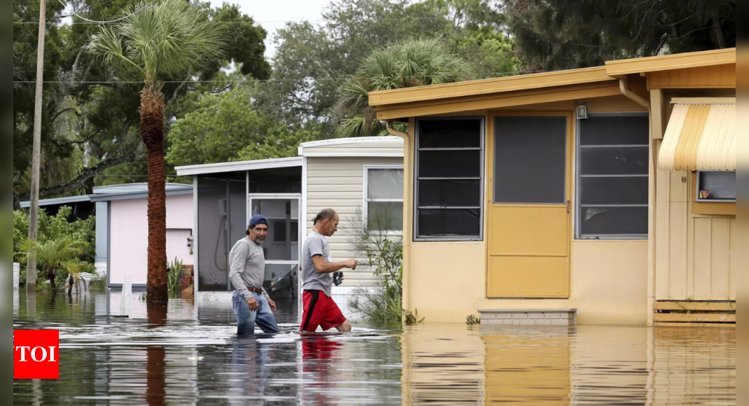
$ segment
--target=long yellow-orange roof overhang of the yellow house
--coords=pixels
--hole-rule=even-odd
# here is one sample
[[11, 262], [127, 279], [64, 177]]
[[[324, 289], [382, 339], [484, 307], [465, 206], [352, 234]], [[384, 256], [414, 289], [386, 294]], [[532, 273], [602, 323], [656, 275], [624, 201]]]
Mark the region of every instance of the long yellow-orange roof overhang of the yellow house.
[[604, 67], [369, 93], [379, 120], [618, 96], [628, 75], [736, 64], [736, 49], [610, 61]]

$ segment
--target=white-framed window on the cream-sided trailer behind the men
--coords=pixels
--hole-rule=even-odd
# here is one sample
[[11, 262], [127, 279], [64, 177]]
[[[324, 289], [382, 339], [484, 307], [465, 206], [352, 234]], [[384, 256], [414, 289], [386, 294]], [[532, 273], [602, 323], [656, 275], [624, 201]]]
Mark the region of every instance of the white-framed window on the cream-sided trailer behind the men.
[[373, 231], [403, 231], [403, 168], [365, 167], [365, 218]]

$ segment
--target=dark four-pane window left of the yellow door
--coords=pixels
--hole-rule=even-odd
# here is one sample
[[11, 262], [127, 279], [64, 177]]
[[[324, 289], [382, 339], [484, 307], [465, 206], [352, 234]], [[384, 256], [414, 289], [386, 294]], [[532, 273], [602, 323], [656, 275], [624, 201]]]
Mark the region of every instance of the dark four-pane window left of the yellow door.
[[416, 122], [417, 241], [482, 238], [481, 118]]

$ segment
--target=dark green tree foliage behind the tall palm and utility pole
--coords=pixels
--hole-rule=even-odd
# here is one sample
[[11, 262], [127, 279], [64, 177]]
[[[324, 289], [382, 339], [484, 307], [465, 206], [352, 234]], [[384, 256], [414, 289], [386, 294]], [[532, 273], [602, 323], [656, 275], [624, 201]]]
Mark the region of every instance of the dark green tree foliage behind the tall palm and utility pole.
[[[88, 19], [109, 20], [138, 0], [67, 0], [73, 10]], [[145, 180], [145, 153], [139, 138], [139, 83], [126, 80], [96, 64], [84, 46], [100, 27], [95, 24], [61, 24], [64, 12], [58, 1], [47, 2], [47, 34], [43, 108], [42, 197], [79, 194], [94, 185]], [[184, 116], [182, 108], [194, 107], [194, 93], [225, 88], [223, 67], [234, 64], [237, 75], [255, 79], [270, 76], [265, 60], [266, 31], [237, 5], [195, 4], [225, 35], [225, 56], [207, 61], [190, 76], [169, 77], [166, 94], [166, 130], [173, 119]], [[13, 22], [35, 22], [39, 2], [13, 0]], [[73, 17], [73, 22], [82, 22]], [[243, 22], [240, 24], [234, 22]], [[244, 23], [246, 22], [246, 23]], [[28, 199], [28, 167], [31, 165], [31, 129], [34, 113], [38, 25], [13, 24], [13, 191], [14, 203]], [[199, 83], [199, 80], [216, 83]], [[112, 176], [96, 177], [94, 176]], [[16, 206], [17, 207], [17, 206]]]

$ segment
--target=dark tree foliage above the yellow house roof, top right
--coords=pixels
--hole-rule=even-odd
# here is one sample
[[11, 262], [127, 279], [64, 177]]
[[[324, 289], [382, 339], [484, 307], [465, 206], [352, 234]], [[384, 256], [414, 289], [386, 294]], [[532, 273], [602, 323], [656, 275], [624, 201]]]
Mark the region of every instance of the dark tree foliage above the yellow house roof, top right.
[[735, 0], [506, 0], [524, 60], [543, 70], [736, 46]]

